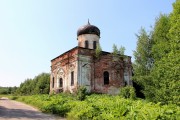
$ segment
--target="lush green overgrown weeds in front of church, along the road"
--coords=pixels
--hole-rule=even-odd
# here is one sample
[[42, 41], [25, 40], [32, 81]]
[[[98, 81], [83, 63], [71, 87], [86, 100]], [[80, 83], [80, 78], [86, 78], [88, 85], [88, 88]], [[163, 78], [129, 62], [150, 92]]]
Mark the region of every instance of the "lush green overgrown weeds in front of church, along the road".
[[71, 94], [17, 96], [17, 100], [38, 107], [43, 112], [58, 114], [70, 120], [178, 120], [180, 108], [120, 96], [90, 95], [84, 101]]

